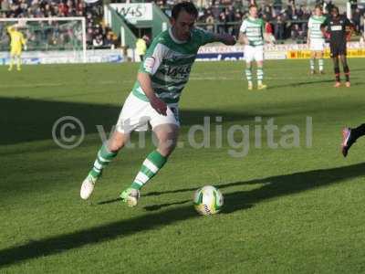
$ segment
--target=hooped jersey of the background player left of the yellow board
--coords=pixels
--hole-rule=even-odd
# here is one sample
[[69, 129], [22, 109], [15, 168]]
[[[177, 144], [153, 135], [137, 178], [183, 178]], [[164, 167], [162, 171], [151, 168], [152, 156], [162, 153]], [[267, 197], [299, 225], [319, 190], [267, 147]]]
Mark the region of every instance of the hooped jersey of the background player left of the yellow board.
[[240, 32], [245, 34], [250, 46], [264, 46], [265, 23], [263, 19], [247, 17], [242, 22]]

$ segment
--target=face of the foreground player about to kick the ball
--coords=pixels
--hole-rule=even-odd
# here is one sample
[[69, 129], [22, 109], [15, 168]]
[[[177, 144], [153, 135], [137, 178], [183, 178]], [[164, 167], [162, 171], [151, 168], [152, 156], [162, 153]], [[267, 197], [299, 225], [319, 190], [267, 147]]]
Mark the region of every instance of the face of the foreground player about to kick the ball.
[[172, 18], [173, 35], [182, 41], [189, 40], [195, 20], [196, 17], [188, 14], [186, 11], [180, 12], [176, 19]]

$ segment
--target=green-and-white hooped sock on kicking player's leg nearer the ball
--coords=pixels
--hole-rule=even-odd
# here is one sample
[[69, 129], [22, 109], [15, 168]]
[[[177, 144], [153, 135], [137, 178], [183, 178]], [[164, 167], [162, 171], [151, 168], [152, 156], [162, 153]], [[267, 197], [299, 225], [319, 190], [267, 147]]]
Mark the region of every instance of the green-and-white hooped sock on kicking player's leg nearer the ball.
[[162, 166], [166, 161], [167, 157], [162, 156], [159, 152], [153, 151], [150, 153], [142, 163], [140, 172], [137, 174], [130, 187], [138, 190], [141, 189], [144, 184], [150, 181], [151, 178], [162, 169]]

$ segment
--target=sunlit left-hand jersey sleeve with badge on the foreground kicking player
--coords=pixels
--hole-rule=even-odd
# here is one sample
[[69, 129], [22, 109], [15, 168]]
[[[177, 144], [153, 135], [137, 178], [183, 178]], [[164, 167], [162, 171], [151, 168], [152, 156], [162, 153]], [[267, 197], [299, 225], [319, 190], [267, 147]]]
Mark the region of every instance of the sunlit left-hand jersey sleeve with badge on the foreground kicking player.
[[154, 75], [157, 69], [160, 68], [167, 51], [168, 47], [160, 43], [159, 38], [157, 38], [157, 41], [152, 43], [151, 47], [148, 49], [145, 58], [141, 63], [139, 72]]

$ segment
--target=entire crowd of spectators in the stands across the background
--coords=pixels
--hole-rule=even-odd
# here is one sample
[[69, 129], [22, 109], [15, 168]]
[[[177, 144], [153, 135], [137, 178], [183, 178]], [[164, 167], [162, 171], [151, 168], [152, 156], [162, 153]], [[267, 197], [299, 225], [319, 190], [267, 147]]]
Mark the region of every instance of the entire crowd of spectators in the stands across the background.
[[[266, 32], [271, 32], [276, 40], [287, 38], [305, 40], [307, 22], [311, 16], [310, 8], [297, 5], [295, 0], [287, 0], [286, 4], [282, 1], [273, 0], [271, 4], [258, 5], [260, 16], [266, 21]], [[330, 0], [325, 1], [327, 8], [330, 8], [332, 5]], [[200, 10], [198, 25], [207, 30], [237, 35], [240, 22], [247, 16], [248, 5], [253, 4], [255, 0], [195, 0], [195, 2]], [[320, 0], [317, 0], [318, 2]], [[101, 1], [87, 4], [83, 0], [0, 0], [0, 3], [0, 17], [85, 16], [89, 47], [115, 45], [117, 37], [102, 20]], [[170, 16], [171, 7], [176, 0], [155, 0], [155, 3]], [[352, 21], [358, 32], [363, 29], [364, 10], [365, 6], [361, 5], [354, 5], [352, 9]]]

